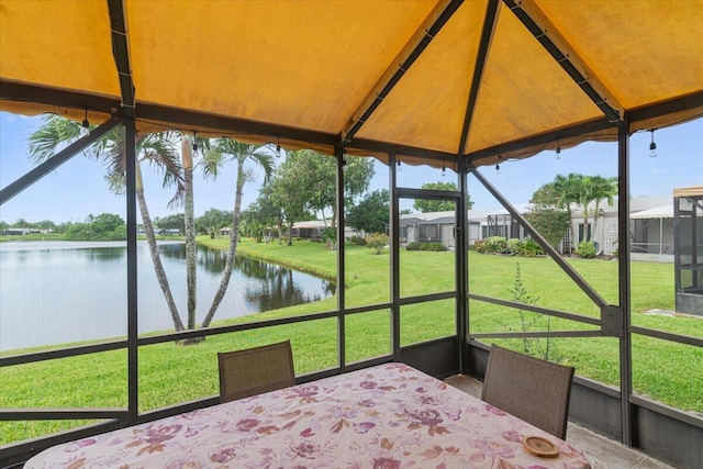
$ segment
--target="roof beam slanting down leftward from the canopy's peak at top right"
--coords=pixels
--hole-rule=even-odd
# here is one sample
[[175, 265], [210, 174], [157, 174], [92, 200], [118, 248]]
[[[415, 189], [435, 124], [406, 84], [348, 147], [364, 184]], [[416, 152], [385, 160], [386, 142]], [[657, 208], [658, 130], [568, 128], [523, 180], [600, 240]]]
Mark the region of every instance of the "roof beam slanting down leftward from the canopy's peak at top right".
[[376, 111], [376, 108], [378, 108], [388, 93], [391, 92], [398, 81], [405, 75], [405, 71], [408, 71], [423, 51], [425, 51], [427, 45], [429, 45], [447, 21], [449, 21], [461, 3], [464, 3], [464, 0], [443, 0], [437, 3], [342, 131], [341, 139], [343, 146], [352, 142], [352, 138], [354, 138], [359, 129], [361, 129], [364, 123], [371, 116], [373, 111]]

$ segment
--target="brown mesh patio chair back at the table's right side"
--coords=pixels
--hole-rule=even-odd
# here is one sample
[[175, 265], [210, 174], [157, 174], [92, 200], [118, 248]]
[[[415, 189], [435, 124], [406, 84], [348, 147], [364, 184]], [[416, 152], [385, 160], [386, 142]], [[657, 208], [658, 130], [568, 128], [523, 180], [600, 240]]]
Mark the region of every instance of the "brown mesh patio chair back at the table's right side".
[[493, 345], [481, 399], [566, 439], [573, 372], [573, 367]]

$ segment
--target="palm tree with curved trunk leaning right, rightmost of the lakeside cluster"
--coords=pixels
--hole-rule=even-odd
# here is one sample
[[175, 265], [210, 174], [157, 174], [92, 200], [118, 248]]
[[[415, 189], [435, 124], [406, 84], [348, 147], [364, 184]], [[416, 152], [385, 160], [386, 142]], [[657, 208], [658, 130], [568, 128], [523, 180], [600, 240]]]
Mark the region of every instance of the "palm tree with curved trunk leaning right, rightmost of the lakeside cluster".
[[244, 185], [252, 178], [250, 170], [245, 168], [247, 159], [253, 160], [259, 165], [266, 175], [266, 178], [270, 177], [274, 172], [274, 157], [270, 153], [261, 150], [261, 146], [249, 145], [241, 142], [235, 142], [230, 137], [217, 138], [210, 150], [205, 153], [203, 160], [203, 172], [207, 177], [216, 177], [222, 166], [227, 161], [236, 161], [237, 165], [237, 179], [236, 179], [236, 194], [234, 198], [234, 211], [232, 214], [232, 232], [230, 234], [230, 247], [227, 249], [227, 260], [225, 263], [224, 270], [222, 272], [222, 279], [220, 287], [212, 300], [212, 305], [208, 311], [208, 314], [202, 321], [201, 327], [208, 327], [212, 321], [224, 293], [230, 284], [230, 278], [232, 277], [232, 266], [234, 265], [234, 256], [237, 250], [237, 241], [239, 237], [239, 217], [242, 212], [242, 192]]

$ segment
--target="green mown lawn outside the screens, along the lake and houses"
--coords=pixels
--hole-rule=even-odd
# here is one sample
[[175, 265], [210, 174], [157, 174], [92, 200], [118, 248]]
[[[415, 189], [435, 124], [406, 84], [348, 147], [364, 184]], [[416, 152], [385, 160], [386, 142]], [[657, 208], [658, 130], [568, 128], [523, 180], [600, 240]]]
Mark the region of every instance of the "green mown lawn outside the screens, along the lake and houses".
[[[225, 239], [199, 238], [199, 242], [226, 248]], [[324, 245], [295, 242], [292, 247], [277, 243], [256, 244], [244, 239], [239, 254], [282, 264], [328, 279], [335, 278], [336, 253]], [[401, 294], [449, 291], [454, 288], [454, 253], [401, 250]], [[388, 302], [389, 255], [373, 249], [346, 247], [347, 306]], [[560, 268], [548, 258], [516, 258], [469, 254], [469, 288], [472, 293], [511, 300], [516, 266], [535, 304], [596, 317], [592, 302]], [[610, 303], [617, 303], [617, 263], [569, 259], [579, 273]], [[646, 327], [703, 336], [703, 320], [685, 316], [652, 316], [650, 309], [673, 310], [673, 266], [632, 264], [633, 323]], [[293, 308], [258, 313], [232, 322], [252, 322], [272, 317], [332, 311], [336, 298]], [[528, 326], [523, 326], [525, 321]], [[479, 301], [470, 302], [471, 332], [521, 330], [593, 328], [573, 321], [551, 319]], [[221, 324], [221, 323], [215, 323]], [[361, 360], [390, 351], [390, 314], [386, 309], [346, 317], [347, 361]], [[454, 301], [443, 300], [401, 309], [403, 345], [455, 333]], [[302, 375], [337, 365], [336, 320], [316, 320], [284, 326], [208, 337], [191, 346], [174, 343], [140, 349], [140, 409], [147, 411], [217, 392], [215, 354], [290, 338], [295, 371]], [[491, 342], [491, 340], [487, 340]], [[499, 340], [495, 340], [499, 342]], [[501, 340], [522, 349], [523, 340]], [[546, 339], [529, 340], [527, 346], [544, 353]], [[577, 373], [609, 384], [618, 383], [618, 342], [612, 337], [550, 339], [549, 358], [577, 368]], [[703, 413], [703, 349], [665, 340], [634, 336], [633, 382], [637, 393], [666, 404]], [[0, 368], [0, 406], [79, 407], [126, 406], [126, 351], [116, 350]], [[41, 386], [37, 386], [41, 383]], [[0, 422], [0, 444], [40, 436], [85, 422]]]

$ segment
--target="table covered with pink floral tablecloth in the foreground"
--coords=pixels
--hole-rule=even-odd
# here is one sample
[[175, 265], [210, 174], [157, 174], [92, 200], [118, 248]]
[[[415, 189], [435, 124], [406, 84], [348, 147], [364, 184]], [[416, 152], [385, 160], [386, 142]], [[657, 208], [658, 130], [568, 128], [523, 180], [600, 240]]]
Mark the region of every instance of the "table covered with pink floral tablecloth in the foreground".
[[[531, 456], [542, 436], [557, 458]], [[570, 444], [386, 364], [58, 445], [32, 468], [590, 468]]]

